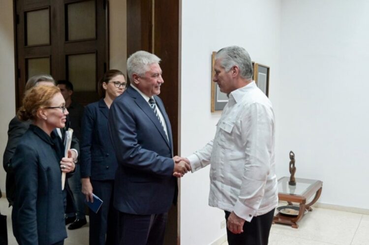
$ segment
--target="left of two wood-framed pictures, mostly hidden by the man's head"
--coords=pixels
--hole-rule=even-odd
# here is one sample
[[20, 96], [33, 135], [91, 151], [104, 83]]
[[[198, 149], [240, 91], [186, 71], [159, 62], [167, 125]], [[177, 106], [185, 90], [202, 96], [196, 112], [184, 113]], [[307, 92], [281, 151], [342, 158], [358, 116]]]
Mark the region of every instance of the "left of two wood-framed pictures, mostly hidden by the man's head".
[[[211, 112], [217, 112], [222, 111], [225, 104], [228, 102], [228, 96], [226, 93], [220, 92], [219, 86], [217, 83], [213, 82], [213, 77], [215, 75], [214, 71], [214, 64], [215, 64], [215, 54], [216, 52], [213, 52], [212, 54], [212, 77], [211, 77], [211, 83], [212, 83], [212, 100], [211, 100]], [[252, 66], [255, 69], [255, 62], [252, 61]], [[252, 78], [254, 79], [254, 78]]]

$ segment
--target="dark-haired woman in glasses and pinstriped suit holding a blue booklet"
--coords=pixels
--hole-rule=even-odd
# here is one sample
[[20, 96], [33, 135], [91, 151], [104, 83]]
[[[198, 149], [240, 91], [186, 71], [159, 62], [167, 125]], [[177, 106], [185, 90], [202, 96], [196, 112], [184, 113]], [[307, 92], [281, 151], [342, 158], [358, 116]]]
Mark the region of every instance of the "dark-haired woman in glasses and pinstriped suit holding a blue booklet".
[[82, 193], [92, 200], [92, 192], [103, 204], [97, 214], [90, 212], [90, 245], [118, 244], [118, 213], [113, 207], [117, 158], [108, 130], [108, 113], [113, 100], [126, 89], [124, 75], [109, 70], [99, 81], [101, 99], [85, 108], [82, 118]]

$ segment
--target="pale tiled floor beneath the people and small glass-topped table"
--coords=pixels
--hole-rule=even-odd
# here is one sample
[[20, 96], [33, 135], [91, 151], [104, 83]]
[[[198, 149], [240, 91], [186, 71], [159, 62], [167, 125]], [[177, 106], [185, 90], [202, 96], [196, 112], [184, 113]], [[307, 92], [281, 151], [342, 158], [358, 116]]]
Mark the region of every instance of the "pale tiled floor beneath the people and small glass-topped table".
[[[7, 215], [9, 245], [16, 245], [11, 229], [11, 209], [0, 199], [1, 214]], [[369, 215], [314, 208], [299, 222], [299, 228], [272, 225], [269, 245], [369, 245]], [[65, 245], [88, 245], [89, 224], [68, 231]], [[224, 243], [222, 245], [227, 245]]]

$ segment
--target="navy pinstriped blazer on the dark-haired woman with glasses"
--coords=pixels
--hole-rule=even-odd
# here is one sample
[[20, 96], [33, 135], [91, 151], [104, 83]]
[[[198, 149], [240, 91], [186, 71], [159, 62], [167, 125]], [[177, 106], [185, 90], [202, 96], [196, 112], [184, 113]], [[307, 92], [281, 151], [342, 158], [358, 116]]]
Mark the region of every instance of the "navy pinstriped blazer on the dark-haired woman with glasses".
[[89, 104], [82, 118], [81, 177], [114, 180], [118, 162], [109, 137], [109, 108], [104, 99]]

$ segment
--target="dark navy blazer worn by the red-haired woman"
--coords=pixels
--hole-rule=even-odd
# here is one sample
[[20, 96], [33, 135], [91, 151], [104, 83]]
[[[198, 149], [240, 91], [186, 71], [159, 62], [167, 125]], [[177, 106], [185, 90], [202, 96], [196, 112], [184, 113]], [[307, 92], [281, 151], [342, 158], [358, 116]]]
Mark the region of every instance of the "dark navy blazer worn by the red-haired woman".
[[22, 245], [49, 245], [67, 237], [58, 158], [52, 138], [30, 125], [11, 160], [16, 183], [13, 233]]

